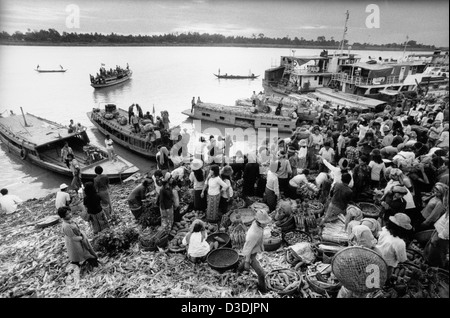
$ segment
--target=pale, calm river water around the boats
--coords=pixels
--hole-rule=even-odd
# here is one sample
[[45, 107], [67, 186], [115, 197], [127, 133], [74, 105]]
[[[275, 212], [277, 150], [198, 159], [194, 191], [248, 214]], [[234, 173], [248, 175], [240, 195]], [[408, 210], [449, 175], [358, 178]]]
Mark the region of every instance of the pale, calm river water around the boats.
[[[320, 49], [296, 49], [295, 55], [318, 55]], [[401, 51], [354, 51], [361, 57], [399, 58]], [[234, 105], [236, 99], [248, 98], [253, 91], [263, 91], [264, 70], [279, 64], [281, 55], [292, 55], [286, 48], [237, 47], [49, 47], [0, 46], [0, 113], [10, 110], [20, 114], [20, 107], [49, 120], [68, 125], [69, 120], [88, 127], [94, 144], [103, 145], [104, 137], [93, 127], [86, 113], [102, 103], [114, 103], [128, 109], [138, 103], [144, 110], [156, 113], [169, 111], [171, 125], [188, 131], [225, 126], [202, 123], [196, 126], [181, 111], [191, 107], [198, 96], [204, 102]], [[104, 63], [133, 70], [130, 81], [119, 86], [95, 90], [89, 74], [95, 74]], [[65, 73], [37, 73], [41, 69], [67, 68]], [[213, 73], [260, 75], [256, 80], [219, 80]], [[194, 140], [194, 138], [191, 138]], [[234, 150], [245, 145], [237, 143]], [[154, 163], [116, 145], [120, 156], [142, 171]], [[70, 178], [46, 171], [7, 153], [0, 147], [0, 188], [23, 199], [41, 197], [55, 192]]]

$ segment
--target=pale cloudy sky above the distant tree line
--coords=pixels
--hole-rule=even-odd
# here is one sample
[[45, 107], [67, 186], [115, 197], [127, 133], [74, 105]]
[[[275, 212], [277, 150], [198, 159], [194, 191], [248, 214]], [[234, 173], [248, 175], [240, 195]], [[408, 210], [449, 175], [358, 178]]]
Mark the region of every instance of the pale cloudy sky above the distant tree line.
[[0, 0], [0, 31], [199, 32], [340, 41], [346, 10], [349, 43], [403, 43], [408, 37], [449, 46], [447, 0]]

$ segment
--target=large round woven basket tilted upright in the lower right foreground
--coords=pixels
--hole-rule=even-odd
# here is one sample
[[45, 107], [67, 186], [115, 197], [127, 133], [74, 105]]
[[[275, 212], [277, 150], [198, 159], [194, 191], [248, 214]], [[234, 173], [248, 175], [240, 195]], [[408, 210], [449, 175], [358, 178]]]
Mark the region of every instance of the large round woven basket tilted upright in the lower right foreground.
[[375, 251], [350, 246], [336, 253], [331, 269], [345, 288], [356, 293], [370, 293], [382, 288], [387, 280], [386, 261]]

